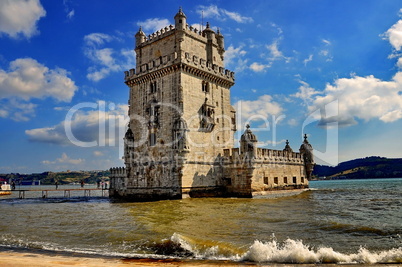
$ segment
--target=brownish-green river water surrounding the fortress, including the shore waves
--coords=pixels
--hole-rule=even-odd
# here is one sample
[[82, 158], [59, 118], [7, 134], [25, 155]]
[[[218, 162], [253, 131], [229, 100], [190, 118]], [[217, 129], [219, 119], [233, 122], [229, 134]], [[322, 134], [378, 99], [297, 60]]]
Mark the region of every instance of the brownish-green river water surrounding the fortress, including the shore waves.
[[18, 199], [14, 192], [0, 198], [0, 248], [255, 263], [402, 263], [402, 179], [312, 181], [310, 188], [281, 198], [148, 203], [63, 198], [62, 191]]

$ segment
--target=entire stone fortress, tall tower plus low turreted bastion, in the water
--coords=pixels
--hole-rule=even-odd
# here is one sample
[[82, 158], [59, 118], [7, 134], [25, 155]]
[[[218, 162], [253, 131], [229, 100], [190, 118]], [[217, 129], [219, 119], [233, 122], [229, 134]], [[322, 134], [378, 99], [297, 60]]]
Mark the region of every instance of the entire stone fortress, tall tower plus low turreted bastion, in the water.
[[135, 35], [136, 67], [125, 72], [130, 121], [124, 164], [110, 169], [110, 197], [125, 201], [253, 197], [308, 188], [313, 148], [257, 147], [247, 125], [234, 147], [234, 72], [224, 68], [224, 37], [200, 31], [180, 9], [175, 25]]

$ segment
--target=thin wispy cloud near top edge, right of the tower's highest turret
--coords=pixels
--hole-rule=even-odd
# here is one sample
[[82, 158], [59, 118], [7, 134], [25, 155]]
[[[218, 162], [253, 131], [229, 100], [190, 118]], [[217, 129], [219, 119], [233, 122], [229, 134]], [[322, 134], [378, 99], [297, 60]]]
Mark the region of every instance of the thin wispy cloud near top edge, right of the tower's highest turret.
[[254, 21], [251, 17], [242, 16], [237, 12], [232, 12], [223, 8], [219, 8], [216, 5], [200, 5], [197, 7], [197, 13], [204, 18], [216, 18], [219, 20], [231, 19], [238, 23], [251, 23]]

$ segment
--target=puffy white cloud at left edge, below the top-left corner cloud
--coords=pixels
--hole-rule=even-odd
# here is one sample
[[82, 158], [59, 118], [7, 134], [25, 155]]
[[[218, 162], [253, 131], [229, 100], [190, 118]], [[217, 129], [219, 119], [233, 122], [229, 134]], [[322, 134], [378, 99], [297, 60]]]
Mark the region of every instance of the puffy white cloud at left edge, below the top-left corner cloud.
[[9, 70], [0, 69], [0, 99], [52, 97], [69, 102], [78, 88], [67, 75], [64, 69], [49, 69], [32, 58], [16, 59]]

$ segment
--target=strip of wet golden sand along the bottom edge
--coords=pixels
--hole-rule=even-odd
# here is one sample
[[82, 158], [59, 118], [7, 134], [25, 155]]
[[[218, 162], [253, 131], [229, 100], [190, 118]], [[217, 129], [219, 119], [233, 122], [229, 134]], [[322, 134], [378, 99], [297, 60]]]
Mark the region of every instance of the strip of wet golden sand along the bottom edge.
[[[11, 267], [50, 267], [50, 266], [86, 266], [86, 267], [127, 267], [127, 266], [197, 266], [197, 267], [242, 267], [242, 266], [269, 266], [269, 267], [316, 267], [341, 266], [357, 267], [360, 264], [256, 264], [248, 262], [201, 261], [201, 260], [157, 260], [157, 259], [122, 259], [113, 257], [95, 257], [84, 255], [65, 255], [63, 253], [34, 253], [0, 251], [0, 266]], [[402, 264], [370, 264], [370, 267], [396, 267]]]

